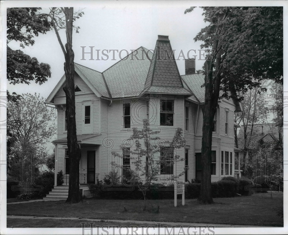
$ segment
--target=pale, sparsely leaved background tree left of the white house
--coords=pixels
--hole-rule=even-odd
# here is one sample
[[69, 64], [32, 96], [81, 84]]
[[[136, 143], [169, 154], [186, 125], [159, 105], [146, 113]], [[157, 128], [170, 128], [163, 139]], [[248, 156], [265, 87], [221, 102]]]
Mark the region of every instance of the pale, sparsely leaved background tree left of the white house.
[[24, 94], [14, 102], [7, 102], [7, 141], [10, 154], [24, 148], [36, 151], [36, 164], [43, 164], [46, 156], [45, 144], [56, 133], [56, 113], [44, 104], [44, 98], [38, 94]]

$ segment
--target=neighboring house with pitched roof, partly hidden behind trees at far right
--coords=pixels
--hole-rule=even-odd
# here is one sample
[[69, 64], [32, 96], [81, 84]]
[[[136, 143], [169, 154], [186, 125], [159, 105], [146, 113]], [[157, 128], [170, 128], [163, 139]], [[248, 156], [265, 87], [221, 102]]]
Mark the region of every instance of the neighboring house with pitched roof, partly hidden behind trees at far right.
[[[251, 134], [252, 129], [252, 134]], [[237, 135], [240, 159], [245, 156], [246, 166], [242, 169], [247, 177], [259, 175], [283, 175], [283, 129], [276, 124], [247, 125], [247, 139], [244, 126]], [[245, 148], [246, 146], [246, 148]]]

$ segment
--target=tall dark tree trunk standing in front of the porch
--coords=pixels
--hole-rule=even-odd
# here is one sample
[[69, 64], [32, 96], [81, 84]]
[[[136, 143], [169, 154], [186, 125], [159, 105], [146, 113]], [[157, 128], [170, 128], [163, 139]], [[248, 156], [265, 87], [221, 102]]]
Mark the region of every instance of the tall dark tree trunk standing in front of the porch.
[[73, 8], [65, 8], [66, 17], [66, 54], [64, 70], [66, 76], [66, 86], [63, 88], [66, 94], [67, 110], [67, 146], [70, 159], [69, 191], [66, 202], [77, 203], [82, 200], [79, 193], [79, 163], [81, 152], [77, 144], [76, 118], [75, 118], [75, 90], [74, 90], [74, 52], [72, 50], [72, 21]]

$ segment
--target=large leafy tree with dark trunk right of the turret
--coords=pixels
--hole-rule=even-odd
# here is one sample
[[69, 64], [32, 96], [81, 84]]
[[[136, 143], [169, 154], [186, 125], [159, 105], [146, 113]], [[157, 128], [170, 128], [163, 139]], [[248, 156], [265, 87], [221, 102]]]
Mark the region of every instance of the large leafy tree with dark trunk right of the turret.
[[[186, 9], [191, 12], [194, 7]], [[220, 98], [243, 97], [263, 79], [283, 83], [282, 7], [202, 7], [209, 25], [196, 35], [209, 49], [204, 64], [205, 101], [202, 107], [202, 186], [198, 201], [213, 203], [211, 194], [212, 126]], [[231, 93], [230, 93], [231, 91]]]

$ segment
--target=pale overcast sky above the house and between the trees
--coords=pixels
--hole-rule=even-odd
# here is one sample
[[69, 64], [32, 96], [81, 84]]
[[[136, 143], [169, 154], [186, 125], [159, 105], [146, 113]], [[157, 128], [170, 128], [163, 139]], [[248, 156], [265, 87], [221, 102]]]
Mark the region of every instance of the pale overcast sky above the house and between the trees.
[[[104, 60], [89, 60], [88, 54], [82, 56], [82, 52], [90, 52], [89, 46], [93, 47], [93, 59], [97, 59], [96, 49], [100, 50], [99, 58], [103, 50], [122, 51], [120, 56], [123, 58], [131, 50], [140, 46], [154, 50], [158, 35], [168, 35], [172, 49], [175, 50], [175, 57], [178, 58], [183, 51], [187, 58], [203, 54], [200, 50], [201, 42], [194, 42], [194, 37], [205, 27], [202, 9], [196, 8], [193, 12], [184, 14], [185, 9], [190, 8], [191, 2], [179, 1], [137, 1], [137, 4], [128, 1], [93, 1], [90, 4], [81, 6], [84, 15], [74, 22], [79, 26], [79, 33], [73, 32], [73, 50], [75, 53], [74, 62], [103, 72], [111, 65], [119, 61], [119, 53], [113, 51], [107, 53], [109, 58], [102, 56]], [[46, 11], [47, 8], [43, 8]], [[74, 11], [80, 9], [75, 7]], [[65, 44], [65, 30], [60, 31], [61, 39]], [[10, 42], [12, 49], [20, 49], [18, 42]], [[82, 47], [81, 47], [82, 46]], [[24, 53], [31, 57], [36, 57], [39, 62], [47, 63], [51, 66], [51, 78], [42, 85], [31, 82], [30, 85], [7, 84], [7, 89], [17, 94], [40, 93], [47, 98], [64, 74], [63, 64], [64, 55], [57, 41], [54, 31], [49, 31], [44, 35], [35, 37], [35, 44], [26, 47]], [[83, 58], [82, 58], [83, 57]], [[177, 60], [180, 74], [185, 74], [183, 56]], [[204, 56], [201, 56], [204, 59]], [[84, 60], [83, 60], [84, 59]], [[196, 58], [197, 59], [197, 58]], [[204, 60], [196, 60], [196, 70], [201, 69]]]

